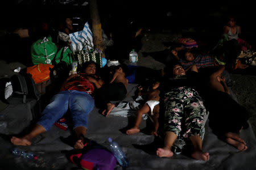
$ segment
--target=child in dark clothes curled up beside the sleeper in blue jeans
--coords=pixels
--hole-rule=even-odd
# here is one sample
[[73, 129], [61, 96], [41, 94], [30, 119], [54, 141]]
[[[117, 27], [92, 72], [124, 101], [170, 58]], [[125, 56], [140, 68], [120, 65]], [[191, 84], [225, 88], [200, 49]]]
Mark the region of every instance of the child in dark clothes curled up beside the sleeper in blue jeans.
[[128, 79], [125, 78], [123, 65], [110, 66], [110, 82], [105, 81], [104, 85], [96, 91], [96, 107], [103, 109], [102, 115], [108, 116], [115, 107], [110, 101], [123, 100], [127, 94]]

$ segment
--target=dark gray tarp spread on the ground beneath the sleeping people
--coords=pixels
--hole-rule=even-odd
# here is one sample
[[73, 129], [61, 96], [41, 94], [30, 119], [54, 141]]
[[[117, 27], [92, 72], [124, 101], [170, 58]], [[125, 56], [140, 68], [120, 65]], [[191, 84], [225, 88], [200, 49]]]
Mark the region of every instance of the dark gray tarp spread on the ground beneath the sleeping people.
[[[2, 63], [1, 63], [2, 65]], [[2, 66], [0, 66], [3, 68]], [[15, 68], [15, 66], [13, 66]], [[12, 69], [10, 69], [12, 70]], [[1, 71], [2, 72], [2, 71]], [[1, 73], [2, 74], [2, 73]], [[135, 86], [129, 84], [129, 95], [126, 101], [132, 100]], [[4, 105], [1, 105], [4, 107]], [[2, 108], [1, 108], [2, 109]], [[206, 133], [203, 141], [203, 150], [209, 152], [210, 160], [207, 162], [195, 160], [183, 154], [174, 155], [170, 158], [159, 158], [155, 155], [155, 138], [152, 135], [138, 133], [126, 135], [123, 129], [133, 124], [132, 118], [112, 116], [104, 117], [94, 108], [89, 115], [89, 126], [86, 137], [101, 145], [108, 147], [108, 137], [117, 141], [129, 158], [130, 167], [127, 169], [256, 169], [256, 140], [251, 126], [242, 130], [241, 137], [246, 141], [248, 149], [238, 151], [233, 146], [220, 141], [206, 124]], [[141, 129], [146, 127], [143, 120]], [[10, 154], [9, 148], [13, 147], [9, 138], [0, 136], [0, 168], [1, 169], [74, 169], [76, 165], [69, 162], [64, 151], [72, 150], [71, 146], [60, 141], [60, 136], [68, 137], [70, 131], [64, 131], [52, 126], [44, 139], [35, 145], [25, 148], [38, 155], [38, 160], [26, 160]], [[116, 169], [121, 169], [117, 166]]]

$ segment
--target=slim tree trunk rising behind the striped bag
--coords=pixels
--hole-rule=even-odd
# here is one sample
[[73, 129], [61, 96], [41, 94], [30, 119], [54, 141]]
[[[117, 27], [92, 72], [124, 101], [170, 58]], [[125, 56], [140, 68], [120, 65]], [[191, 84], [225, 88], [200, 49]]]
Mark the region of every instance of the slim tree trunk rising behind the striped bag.
[[89, 1], [90, 18], [92, 19], [93, 45], [102, 51], [102, 57], [105, 58], [104, 41], [102, 40], [101, 22], [98, 15], [97, 0]]

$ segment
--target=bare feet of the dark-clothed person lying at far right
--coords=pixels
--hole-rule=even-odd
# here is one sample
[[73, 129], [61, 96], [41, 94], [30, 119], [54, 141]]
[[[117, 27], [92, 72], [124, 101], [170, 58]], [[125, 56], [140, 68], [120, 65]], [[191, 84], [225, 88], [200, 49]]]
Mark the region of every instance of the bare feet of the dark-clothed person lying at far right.
[[226, 137], [226, 142], [229, 143], [230, 145], [233, 145], [240, 151], [245, 151], [247, 150], [247, 146], [245, 141], [236, 133], [228, 132], [225, 134]]

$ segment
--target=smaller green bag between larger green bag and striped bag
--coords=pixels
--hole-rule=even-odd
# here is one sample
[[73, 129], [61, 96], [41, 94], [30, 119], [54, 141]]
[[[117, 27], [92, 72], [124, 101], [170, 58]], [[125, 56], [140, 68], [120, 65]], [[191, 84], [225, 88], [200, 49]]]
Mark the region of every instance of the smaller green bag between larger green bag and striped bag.
[[67, 63], [67, 65], [71, 65], [72, 63], [72, 50], [68, 46], [64, 46], [57, 52], [55, 56], [55, 62], [56, 64], [60, 61], [64, 61]]

